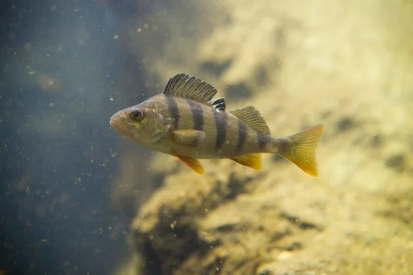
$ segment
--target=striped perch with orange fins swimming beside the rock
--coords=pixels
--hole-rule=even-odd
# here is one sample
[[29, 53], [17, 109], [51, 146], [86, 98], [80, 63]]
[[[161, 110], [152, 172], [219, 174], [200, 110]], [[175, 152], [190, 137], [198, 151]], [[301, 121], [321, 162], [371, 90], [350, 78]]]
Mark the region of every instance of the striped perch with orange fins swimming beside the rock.
[[325, 124], [274, 137], [255, 107], [226, 111], [224, 98], [213, 98], [217, 93], [195, 76], [176, 74], [162, 94], [118, 111], [110, 124], [124, 137], [177, 157], [199, 174], [204, 173], [199, 159], [231, 159], [261, 170], [262, 153], [273, 153], [318, 175], [315, 149]]

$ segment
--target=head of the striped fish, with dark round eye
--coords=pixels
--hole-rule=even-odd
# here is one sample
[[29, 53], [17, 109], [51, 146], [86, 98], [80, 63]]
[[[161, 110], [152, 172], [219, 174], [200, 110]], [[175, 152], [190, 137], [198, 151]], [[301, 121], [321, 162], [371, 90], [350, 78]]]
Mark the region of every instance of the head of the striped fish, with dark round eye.
[[151, 144], [167, 133], [169, 124], [156, 109], [138, 104], [118, 111], [110, 124], [116, 131], [140, 144]]

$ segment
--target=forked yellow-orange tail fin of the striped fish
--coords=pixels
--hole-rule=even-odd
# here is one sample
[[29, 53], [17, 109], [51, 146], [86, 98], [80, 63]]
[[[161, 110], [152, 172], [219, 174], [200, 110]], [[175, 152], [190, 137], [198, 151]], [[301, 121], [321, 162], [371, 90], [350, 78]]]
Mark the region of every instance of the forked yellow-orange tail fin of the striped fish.
[[309, 175], [317, 177], [318, 170], [315, 149], [321, 137], [323, 137], [325, 130], [326, 126], [324, 124], [318, 124], [295, 135], [286, 137], [286, 139], [290, 141], [289, 150], [280, 152], [279, 155], [293, 162], [293, 164], [297, 165]]

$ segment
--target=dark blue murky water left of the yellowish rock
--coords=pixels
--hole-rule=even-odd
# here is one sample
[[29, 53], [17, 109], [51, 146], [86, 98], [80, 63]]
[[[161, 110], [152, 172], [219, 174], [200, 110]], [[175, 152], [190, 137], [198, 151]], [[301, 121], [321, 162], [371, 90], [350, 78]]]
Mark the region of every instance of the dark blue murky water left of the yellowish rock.
[[140, 61], [116, 34], [147, 8], [0, 5], [0, 274], [108, 274], [127, 256], [130, 222], [111, 201], [120, 142], [109, 118], [144, 77], [119, 87]]

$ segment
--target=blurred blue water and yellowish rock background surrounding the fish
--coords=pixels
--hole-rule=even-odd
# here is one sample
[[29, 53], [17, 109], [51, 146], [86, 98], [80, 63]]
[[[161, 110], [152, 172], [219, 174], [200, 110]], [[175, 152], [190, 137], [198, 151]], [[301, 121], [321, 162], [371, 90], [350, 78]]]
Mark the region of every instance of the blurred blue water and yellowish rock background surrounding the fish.
[[[413, 2], [1, 1], [0, 274], [413, 274]], [[319, 176], [204, 175], [109, 118], [184, 72]]]

